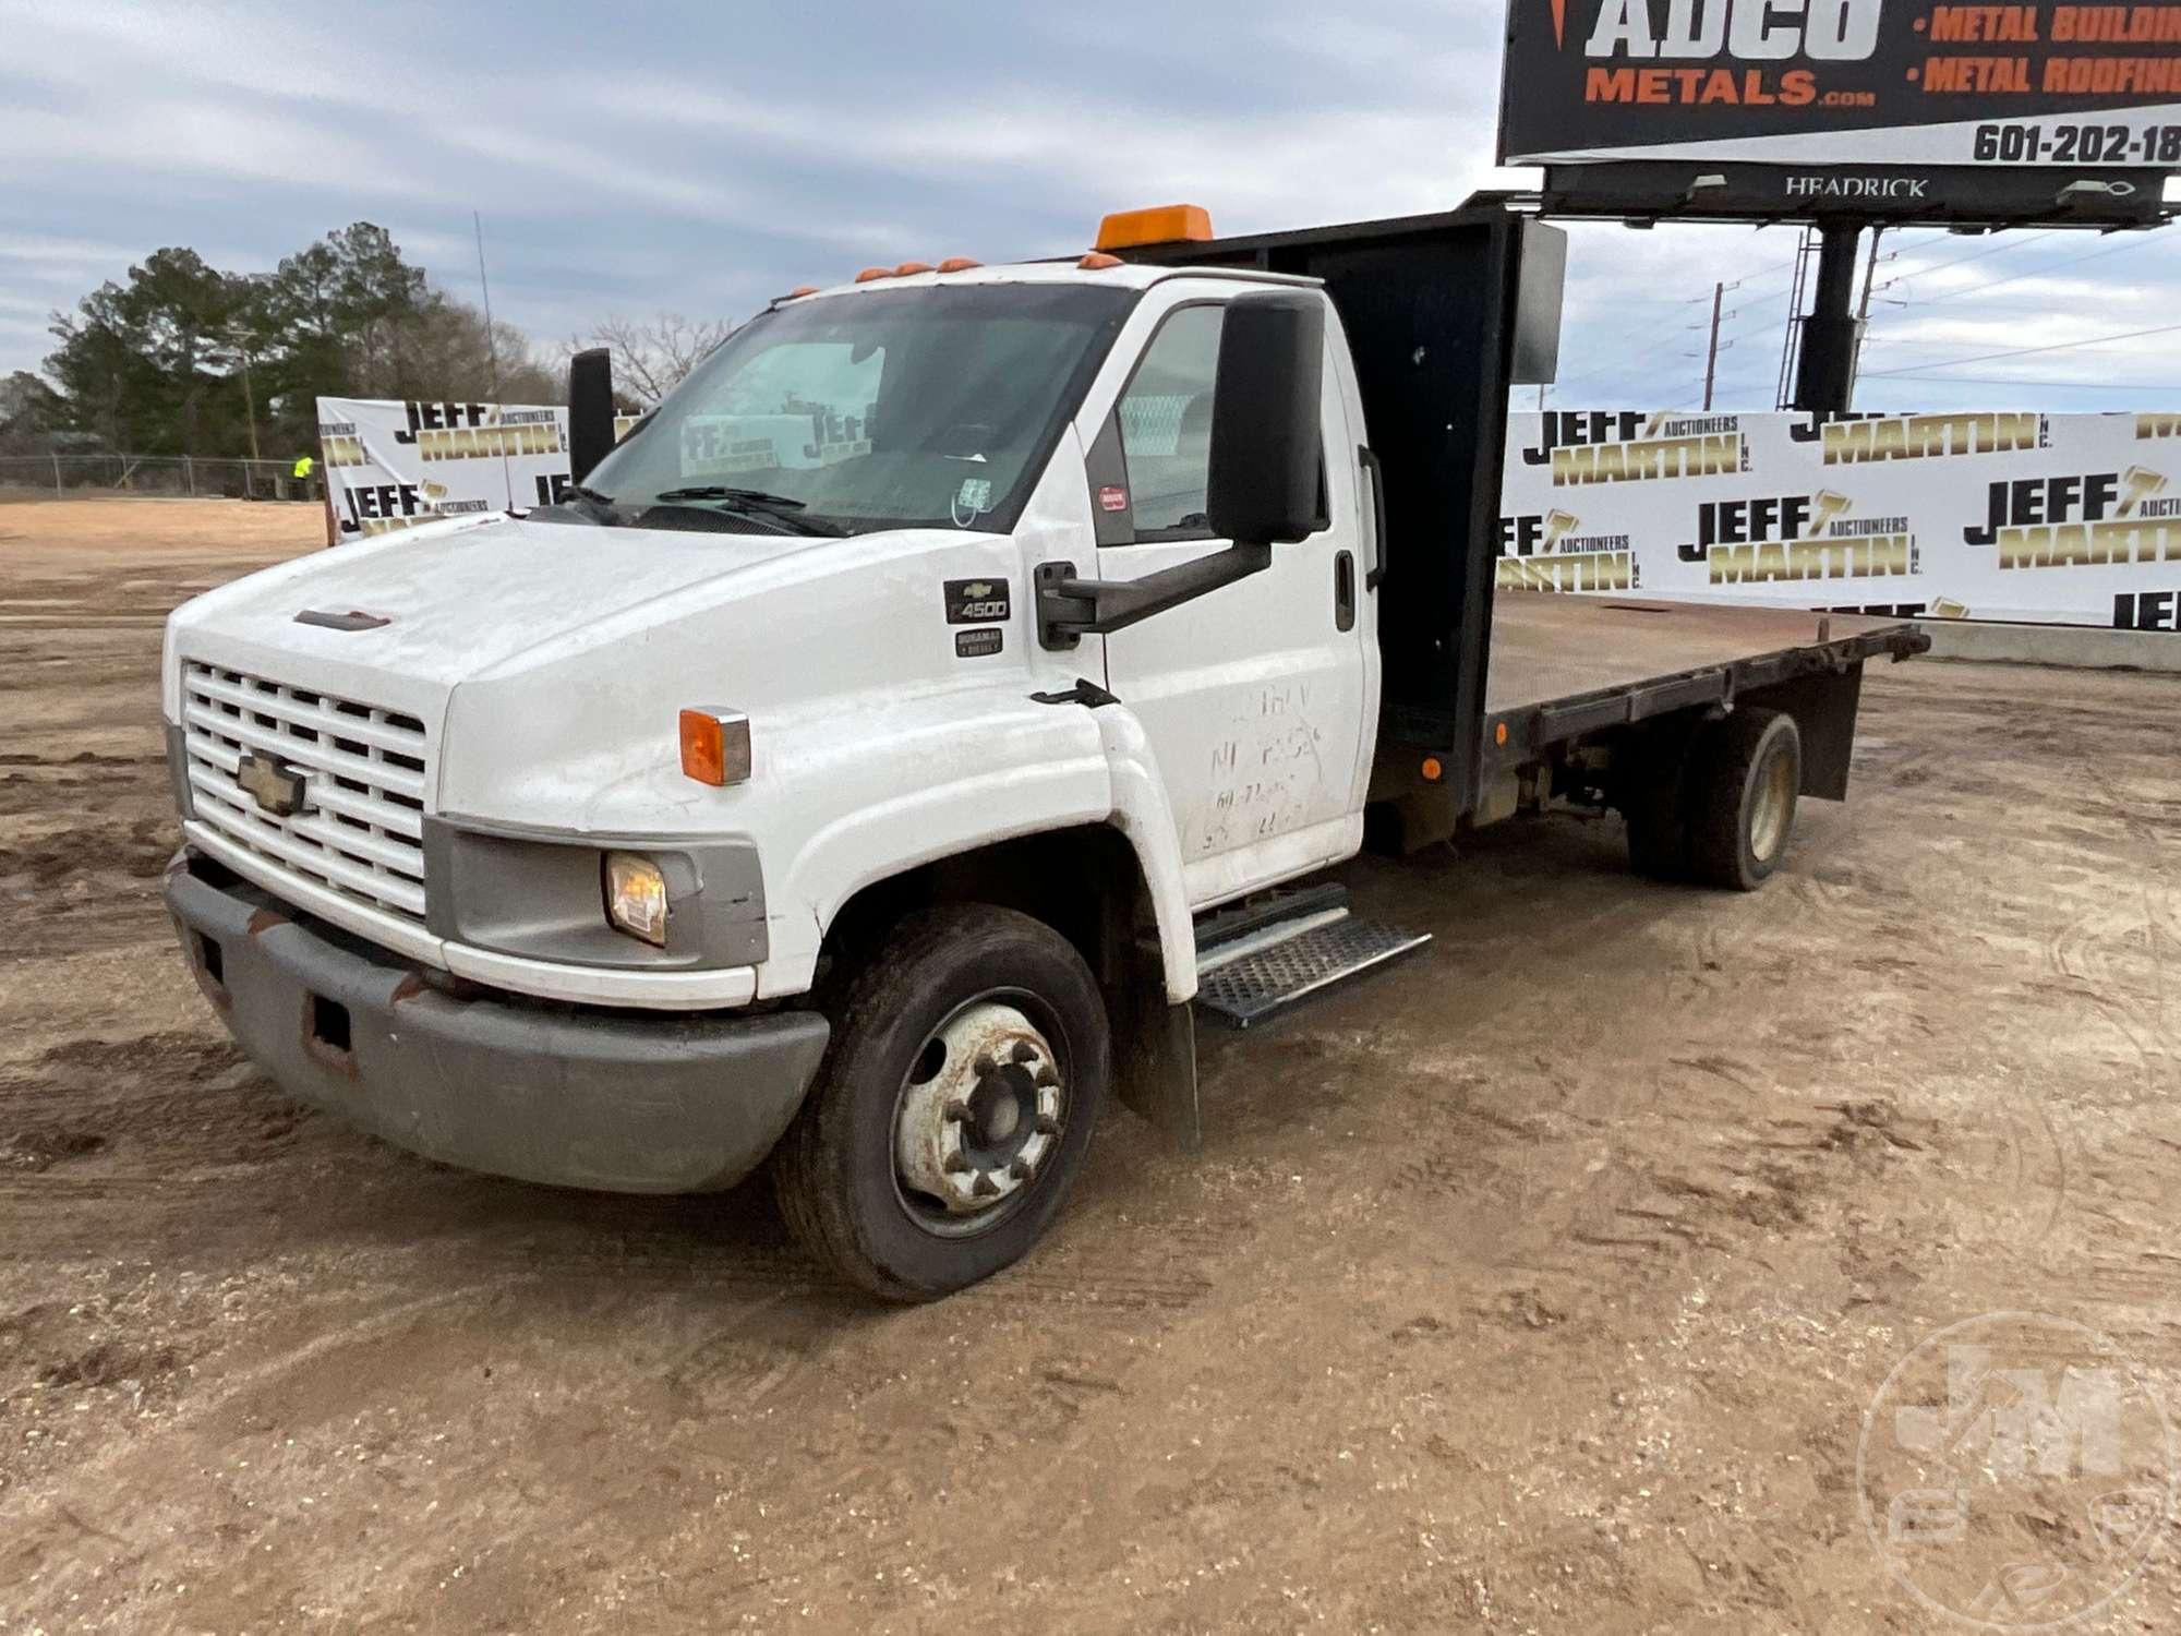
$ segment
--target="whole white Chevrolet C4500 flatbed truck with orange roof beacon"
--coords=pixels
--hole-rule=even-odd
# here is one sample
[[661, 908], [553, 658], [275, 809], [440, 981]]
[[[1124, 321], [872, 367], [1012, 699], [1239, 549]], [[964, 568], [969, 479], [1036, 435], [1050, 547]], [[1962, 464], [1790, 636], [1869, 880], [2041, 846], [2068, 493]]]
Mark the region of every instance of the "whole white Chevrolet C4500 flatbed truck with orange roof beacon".
[[770, 1163], [820, 1261], [925, 1300], [1038, 1239], [1108, 1093], [1197, 1141], [1200, 1006], [1420, 942], [1293, 886], [1367, 829], [1579, 801], [1758, 886], [1845, 796], [1863, 663], [1924, 639], [1494, 598], [1559, 249], [1503, 196], [1119, 216], [783, 297], [619, 447], [578, 360], [561, 504], [174, 613], [198, 984], [390, 1143], [650, 1193]]

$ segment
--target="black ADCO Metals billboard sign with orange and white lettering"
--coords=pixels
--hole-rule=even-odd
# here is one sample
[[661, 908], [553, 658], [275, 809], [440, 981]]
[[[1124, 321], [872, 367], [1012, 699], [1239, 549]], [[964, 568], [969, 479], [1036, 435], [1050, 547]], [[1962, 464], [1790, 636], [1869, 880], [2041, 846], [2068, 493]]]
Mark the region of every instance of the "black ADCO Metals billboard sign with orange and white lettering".
[[1509, 0], [1501, 164], [2181, 168], [2181, 0]]

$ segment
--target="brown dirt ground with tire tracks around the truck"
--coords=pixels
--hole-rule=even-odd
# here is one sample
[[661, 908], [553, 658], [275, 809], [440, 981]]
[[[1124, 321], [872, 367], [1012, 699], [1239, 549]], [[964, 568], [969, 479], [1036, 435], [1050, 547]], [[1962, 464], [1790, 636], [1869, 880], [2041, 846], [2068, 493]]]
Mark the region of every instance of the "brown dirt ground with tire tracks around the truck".
[[[1359, 864], [1424, 958], [875, 1311], [757, 1189], [460, 1176], [229, 1047], [159, 615], [316, 530], [0, 506], [9, 1636], [1928, 1629], [1856, 1475], [1917, 1342], [2055, 1313], [2181, 1409], [2181, 678], [1876, 672], [1756, 897], [1575, 818]], [[2083, 1629], [2181, 1627], [2172, 1527]]]

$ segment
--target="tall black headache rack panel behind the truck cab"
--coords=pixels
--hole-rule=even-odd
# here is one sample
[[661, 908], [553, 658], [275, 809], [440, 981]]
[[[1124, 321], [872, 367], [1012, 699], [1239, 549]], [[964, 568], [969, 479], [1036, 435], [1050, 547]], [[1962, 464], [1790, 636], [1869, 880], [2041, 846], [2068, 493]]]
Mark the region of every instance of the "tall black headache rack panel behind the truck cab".
[[1461, 209], [1125, 251], [1322, 279], [1348, 332], [1381, 493], [1381, 737], [1483, 790], [1507, 388], [1553, 380], [1566, 236], [1514, 194]]

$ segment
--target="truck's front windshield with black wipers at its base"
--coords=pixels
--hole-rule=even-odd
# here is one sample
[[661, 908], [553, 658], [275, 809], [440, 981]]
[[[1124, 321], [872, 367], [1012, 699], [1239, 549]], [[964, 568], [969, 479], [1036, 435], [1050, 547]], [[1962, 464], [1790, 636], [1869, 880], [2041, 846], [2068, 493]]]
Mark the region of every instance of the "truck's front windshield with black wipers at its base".
[[1082, 284], [792, 301], [698, 364], [585, 486], [637, 526], [718, 510], [824, 534], [1008, 530], [1134, 301]]

